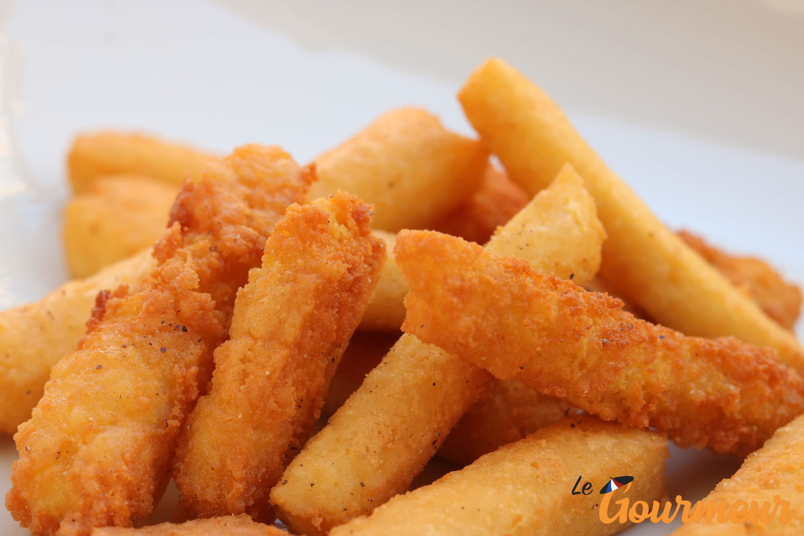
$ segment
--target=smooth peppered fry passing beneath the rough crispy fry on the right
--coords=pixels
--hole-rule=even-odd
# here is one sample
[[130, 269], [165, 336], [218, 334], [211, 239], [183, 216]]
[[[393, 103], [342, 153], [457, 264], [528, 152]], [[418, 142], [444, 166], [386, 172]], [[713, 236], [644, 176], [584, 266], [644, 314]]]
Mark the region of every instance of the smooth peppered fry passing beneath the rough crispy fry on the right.
[[[556, 236], [572, 240], [558, 243]], [[487, 247], [510, 248], [519, 239], [519, 255], [542, 269], [583, 260], [583, 279], [597, 268], [603, 236], [591, 196], [567, 168]], [[400, 338], [285, 470], [271, 492], [279, 518], [298, 532], [323, 534], [408, 489], [490, 379], [467, 365], [437, 346]]]

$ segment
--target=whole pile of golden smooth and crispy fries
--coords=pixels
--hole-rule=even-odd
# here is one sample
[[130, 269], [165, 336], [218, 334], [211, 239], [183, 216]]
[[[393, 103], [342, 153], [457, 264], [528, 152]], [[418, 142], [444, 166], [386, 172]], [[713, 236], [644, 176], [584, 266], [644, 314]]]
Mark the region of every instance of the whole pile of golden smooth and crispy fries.
[[[801, 505], [800, 290], [668, 230], [502, 60], [458, 98], [477, 140], [403, 108], [304, 167], [77, 137], [76, 280], [0, 313], [14, 519], [616, 534], [647, 517], [621, 499], [666, 505], [668, 439], [747, 456], [707, 500]], [[433, 456], [462, 468], [408, 491]], [[143, 527], [171, 477], [175, 523]], [[750, 508], [674, 534], [804, 534]]]

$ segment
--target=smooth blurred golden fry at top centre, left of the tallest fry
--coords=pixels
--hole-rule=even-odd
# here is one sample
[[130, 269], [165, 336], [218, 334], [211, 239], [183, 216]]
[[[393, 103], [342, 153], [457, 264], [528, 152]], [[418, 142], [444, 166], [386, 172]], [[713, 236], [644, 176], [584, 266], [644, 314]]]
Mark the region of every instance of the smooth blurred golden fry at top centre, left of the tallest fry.
[[455, 210], [482, 180], [488, 152], [420, 108], [384, 113], [315, 161], [310, 197], [345, 190], [374, 204], [374, 227], [423, 229]]

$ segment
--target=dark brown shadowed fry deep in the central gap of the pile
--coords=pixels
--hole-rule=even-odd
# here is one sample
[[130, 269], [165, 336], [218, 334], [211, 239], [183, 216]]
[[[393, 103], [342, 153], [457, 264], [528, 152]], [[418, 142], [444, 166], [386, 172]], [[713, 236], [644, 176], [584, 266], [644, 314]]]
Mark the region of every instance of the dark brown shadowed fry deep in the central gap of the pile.
[[[380, 275], [379, 279], [382, 278]], [[343, 403], [363, 383], [366, 374], [379, 365], [385, 354], [388, 354], [396, 340], [400, 338], [400, 334], [355, 331], [330, 382], [326, 402], [321, 410], [322, 416], [329, 417], [338, 411], [338, 407], [343, 406]]]

